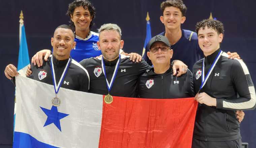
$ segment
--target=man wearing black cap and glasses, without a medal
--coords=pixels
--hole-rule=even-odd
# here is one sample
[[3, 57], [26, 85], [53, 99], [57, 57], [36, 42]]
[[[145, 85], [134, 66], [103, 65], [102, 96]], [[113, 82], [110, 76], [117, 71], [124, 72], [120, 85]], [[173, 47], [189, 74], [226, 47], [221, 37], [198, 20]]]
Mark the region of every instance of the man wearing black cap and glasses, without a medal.
[[191, 71], [188, 70], [180, 77], [173, 76], [170, 65], [173, 50], [168, 39], [162, 35], [153, 37], [149, 42], [149, 49], [147, 56], [154, 67], [140, 76], [138, 97], [162, 99], [194, 97]]

